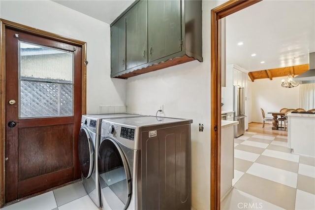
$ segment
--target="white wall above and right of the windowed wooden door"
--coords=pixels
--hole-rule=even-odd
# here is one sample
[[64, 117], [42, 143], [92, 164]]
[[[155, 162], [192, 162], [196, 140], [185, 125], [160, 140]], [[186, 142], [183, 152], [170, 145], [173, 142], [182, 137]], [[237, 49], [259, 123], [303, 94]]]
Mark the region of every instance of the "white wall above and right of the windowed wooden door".
[[1, 0], [0, 18], [87, 42], [87, 113], [126, 105], [126, 81], [110, 78], [108, 24], [49, 0]]

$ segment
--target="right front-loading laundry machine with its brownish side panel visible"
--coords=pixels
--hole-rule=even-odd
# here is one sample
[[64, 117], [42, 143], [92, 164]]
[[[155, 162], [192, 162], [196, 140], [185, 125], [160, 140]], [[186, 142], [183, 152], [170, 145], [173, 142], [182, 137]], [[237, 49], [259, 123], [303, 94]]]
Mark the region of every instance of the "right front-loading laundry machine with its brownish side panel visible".
[[103, 210], [190, 210], [190, 123], [155, 116], [103, 119]]

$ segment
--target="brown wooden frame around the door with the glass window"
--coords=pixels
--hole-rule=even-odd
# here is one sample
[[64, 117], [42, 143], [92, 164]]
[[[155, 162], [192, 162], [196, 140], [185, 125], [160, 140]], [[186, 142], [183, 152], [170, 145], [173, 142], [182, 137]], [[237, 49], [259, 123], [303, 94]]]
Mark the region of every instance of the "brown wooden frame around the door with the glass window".
[[54, 33], [42, 31], [29, 26], [0, 19], [0, 207], [4, 205], [5, 196], [5, 173], [4, 173], [4, 148], [5, 148], [5, 29], [11, 28], [23, 31], [29, 34], [50, 38], [67, 44], [82, 47], [82, 114], [86, 113], [86, 88], [87, 88], [87, 67], [85, 64], [87, 58], [87, 43], [84, 41], [64, 37]]

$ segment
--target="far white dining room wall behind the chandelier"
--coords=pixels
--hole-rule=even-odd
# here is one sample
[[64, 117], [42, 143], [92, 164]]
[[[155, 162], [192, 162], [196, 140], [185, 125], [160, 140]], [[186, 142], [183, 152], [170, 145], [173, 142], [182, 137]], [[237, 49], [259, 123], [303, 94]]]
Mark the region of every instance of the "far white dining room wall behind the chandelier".
[[[264, 109], [267, 117], [269, 111], [280, 111], [281, 108], [299, 108], [300, 87], [284, 88], [281, 80], [285, 77], [270, 79], [256, 79], [250, 81], [250, 92], [252, 101], [252, 122], [262, 122], [260, 108]], [[250, 121], [249, 121], [250, 122]]]

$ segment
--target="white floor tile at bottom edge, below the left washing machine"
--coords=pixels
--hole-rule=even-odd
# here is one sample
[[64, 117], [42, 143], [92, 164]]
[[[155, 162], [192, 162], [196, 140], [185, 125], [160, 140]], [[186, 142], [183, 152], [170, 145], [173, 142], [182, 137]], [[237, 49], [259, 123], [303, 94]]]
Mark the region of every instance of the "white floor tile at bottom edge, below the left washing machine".
[[59, 210], [99, 210], [88, 195], [58, 207]]

